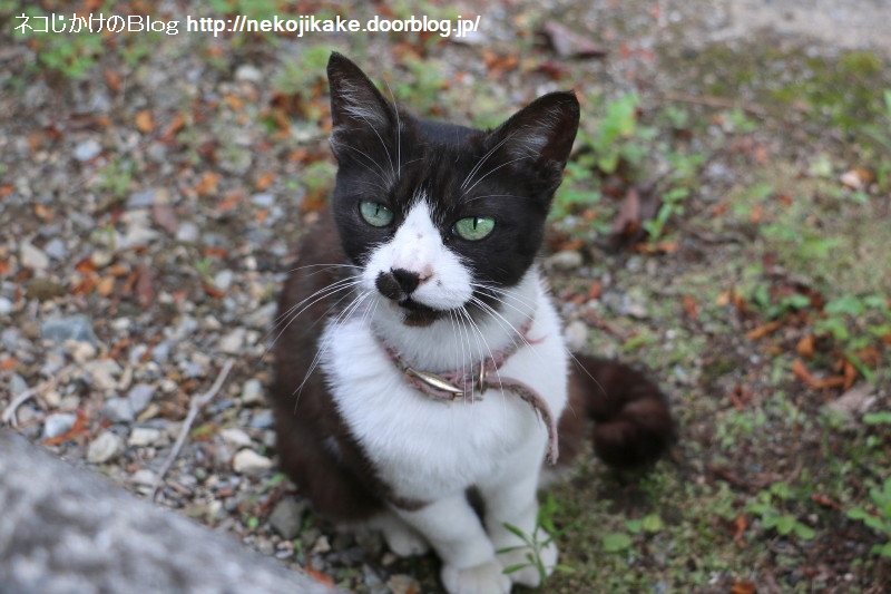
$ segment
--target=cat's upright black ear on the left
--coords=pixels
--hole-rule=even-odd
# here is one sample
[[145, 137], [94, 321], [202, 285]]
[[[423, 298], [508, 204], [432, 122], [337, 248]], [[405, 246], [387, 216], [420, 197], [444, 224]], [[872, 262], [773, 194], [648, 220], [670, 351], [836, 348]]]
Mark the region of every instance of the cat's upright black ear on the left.
[[365, 72], [336, 51], [327, 61], [333, 134], [375, 129], [393, 121], [393, 108]]

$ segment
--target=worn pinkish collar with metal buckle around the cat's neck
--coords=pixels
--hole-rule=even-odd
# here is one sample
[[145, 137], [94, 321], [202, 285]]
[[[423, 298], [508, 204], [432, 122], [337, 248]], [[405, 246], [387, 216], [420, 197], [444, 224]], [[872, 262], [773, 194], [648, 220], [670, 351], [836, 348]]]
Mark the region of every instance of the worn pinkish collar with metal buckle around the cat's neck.
[[[470, 369], [456, 369], [444, 373], [432, 373], [430, 371], [414, 369], [405, 363], [399, 353], [392, 347], [386, 344], [383, 339], [379, 337], [378, 340], [381, 342], [381, 344], [383, 344], [386, 354], [390, 357], [390, 360], [393, 361], [393, 364], [396, 367], [396, 369], [399, 369], [405, 376], [405, 381], [409, 383], [409, 386], [439, 402], [452, 402], [461, 399], [464, 402], [472, 405], [477, 400], [482, 400], [482, 395], [489, 389], [490, 386], [488, 382], [488, 376], [490, 373], [497, 372], [501, 366], [503, 366], [505, 362], [521, 347], [530, 344], [531, 342], [538, 342], [530, 341], [527, 335], [530, 327], [532, 325], [531, 322], [532, 321], [529, 320], [523, 323], [518, 334], [519, 340], [515, 340], [503, 351], [496, 352], [491, 357], [480, 361], [478, 364], [471, 366]], [[539, 415], [548, 429], [548, 450], [546, 460], [549, 465], [556, 464], [559, 455], [557, 419], [555, 419], [554, 415], [551, 413], [548, 402], [541, 398], [541, 395], [538, 393], [533, 388], [518, 379], [505, 377], [498, 373], [497, 384], [501, 390], [511, 391], [519, 396], [523, 401], [532, 407], [532, 410]]]

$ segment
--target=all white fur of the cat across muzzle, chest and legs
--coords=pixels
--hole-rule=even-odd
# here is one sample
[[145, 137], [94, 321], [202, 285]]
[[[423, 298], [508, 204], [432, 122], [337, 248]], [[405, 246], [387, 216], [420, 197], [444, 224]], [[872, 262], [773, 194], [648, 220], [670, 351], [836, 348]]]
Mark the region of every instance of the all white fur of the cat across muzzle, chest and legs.
[[[380, 271], [403, 267], [425, 276], [413, 299], [454, 308], [472, 292], [470, 274], [443, 246], [423, 201], [409, 213], [392, 241], [370, 259], [364, 281], [373, 288]], [[442, 281], [438, 283], [437, 281]], [[429, 288], [429, 289], [428, 289]], [[526, 320], [530, 343], [520, 348], [499, 374], [536, 389], [559, 417], [567, 400], [567, 351], [558, 315], [537, 269], [502, 295], [500, 315], [474, 325], [467, 320], [438, 320], [425, 328], [401, 323], [396, 308], [374, 293], [361, 312], [330, 323], [323, 335], [322, 366], [335, 403], [362, 444], [380, 477], [403, 499], [428, 502], [415, 512], [393, 509], [381, 518], [388, 542], [398, 553], [429, 543], [442, 558], [442, 580], [451, 594], [499, 594], [511, 580], [537, 585], [538, 572], [506, 576], [501, 568], [522, 563], [526, 552], [497, 555], [522, 544], [505, 524], [532, 535], [536, 490], [545, 456], [547, 429], [537, 412], [517, 395], [502, 391], [498, 374], [482, 400], [443, 403], [410, 388], [381, 348], [378, 337], [403, 360], [427, 371], [456, 369], [507, 349]], [[463, 325], [462, 325], [463, 324]], [[477, 487], [484, 500], [480, 523], [466, 498]], [[539, 541], [547, 535], [539, 530]], [[557, 561], [551, 544], [546, 564]]]

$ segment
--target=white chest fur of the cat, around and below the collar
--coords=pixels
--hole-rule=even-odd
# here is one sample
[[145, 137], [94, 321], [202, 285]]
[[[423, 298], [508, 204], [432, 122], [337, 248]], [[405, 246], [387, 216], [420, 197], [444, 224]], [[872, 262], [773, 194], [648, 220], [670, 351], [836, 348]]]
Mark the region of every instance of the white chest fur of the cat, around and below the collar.
[[[566, 406], [568, 361], [558, 317], [537, 272], [530, 271], [518, 290], [527, 293], [527, 304], [535, 305], [529, 312], [535, 312], [532, 324], [523, 337], [528, 344], [490, 374], [491, 387], [473, 402], [460, 398], [440, 402], [410, 387], [366, 317], [353, 315], [327, 327], [322, 366], [331, 393], [379, 476], [399, 497], [438, 499], [513, 474], [518, 465], [537, 476], [547, 441], [546, 426], [531, 406], [502, 391], [498, 378], [530, 386], [559, 416]], [[461, 359], [462, 351], [463, 357], [491, 356], [502, 348], [503, 325], [517, 315], [506, 312], [506, 320], [480, 327], [479, 335], [469, 339], [449, 322], [414, 329], [417, 340], [430, 341], [415, 350], [427, 353], [432, 366], [448, 358], [439, 352], [443, 349], [454, 351], [456, 360]], [[517, 320], [516, 325], [521, 324]], [[423, 361], [415, 364], [423, 369]]]

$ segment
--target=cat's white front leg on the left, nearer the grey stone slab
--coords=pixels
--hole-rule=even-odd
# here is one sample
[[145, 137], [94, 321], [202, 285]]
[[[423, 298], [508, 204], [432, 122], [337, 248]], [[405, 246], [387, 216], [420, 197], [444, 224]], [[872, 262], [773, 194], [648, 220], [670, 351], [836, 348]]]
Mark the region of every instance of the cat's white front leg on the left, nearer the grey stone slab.
[[399, 516], [433, 546], [442, 559], [442, 584], [449, 594], [509, 594], [510, 578], [479, 517], [459, 493], [421, 509], [396, 509]]

